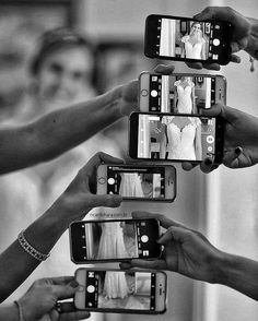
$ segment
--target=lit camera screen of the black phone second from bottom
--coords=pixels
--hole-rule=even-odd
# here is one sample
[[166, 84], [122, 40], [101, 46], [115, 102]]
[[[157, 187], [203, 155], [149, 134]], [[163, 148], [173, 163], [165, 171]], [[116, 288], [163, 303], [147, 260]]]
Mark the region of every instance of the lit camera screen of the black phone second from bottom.
[[[157, 258], [159, 223], [145, 221], [105, 221], [82, 224], [83, 260]], [[84, 241], [83, 241], [84, 240]]]

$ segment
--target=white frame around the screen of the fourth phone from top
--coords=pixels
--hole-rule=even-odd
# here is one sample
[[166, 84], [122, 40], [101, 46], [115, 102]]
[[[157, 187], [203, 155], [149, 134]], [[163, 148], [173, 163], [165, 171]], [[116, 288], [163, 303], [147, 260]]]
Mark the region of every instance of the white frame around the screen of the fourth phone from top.
[[[121, 164], [121, 165], [115, 165], [115, 164], [101, 164], [97, 167], [97, 178], [96, 178], [96, 186], [97, 186], [97, 194], [106, 194], [107, 193], [107, 166], [119, 166], [124, 168], [156, 168], [156, 165], [146, 165], [146, 164]], [[159, 165], [159, 167], [164, 167], [165, 169], [165, 198], [122, 198], [122, 201], [139, 201], [139, 202], [174, 202], [176, 199], [176, 191], [177, 191], [177, 175], [176, 175], [176, 168], [173, 165]], [[166, 185], [167, 182], [167, 173], [171, 169], [174, 185], [173, 189]], [[99, 183], [99, 179], [105, 179], [105, 183]], [[167, 197], [168, 195], [168, 197]]]

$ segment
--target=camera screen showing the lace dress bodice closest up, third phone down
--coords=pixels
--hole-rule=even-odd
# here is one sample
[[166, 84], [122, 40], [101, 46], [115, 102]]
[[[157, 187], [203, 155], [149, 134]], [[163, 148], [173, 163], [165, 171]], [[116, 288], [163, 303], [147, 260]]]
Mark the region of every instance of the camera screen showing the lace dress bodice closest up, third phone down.
[[139, 158], [202, 160], [215, 153], [215, 118], [139, 115]]

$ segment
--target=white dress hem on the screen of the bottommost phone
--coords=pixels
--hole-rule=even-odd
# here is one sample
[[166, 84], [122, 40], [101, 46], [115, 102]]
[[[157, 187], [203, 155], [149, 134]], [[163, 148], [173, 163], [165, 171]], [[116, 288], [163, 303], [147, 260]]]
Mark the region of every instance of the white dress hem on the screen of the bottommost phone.
[[124, 299], [129, 294], [125, 272], [107, 271], [104, 281], [103, 295], [109, 299]]

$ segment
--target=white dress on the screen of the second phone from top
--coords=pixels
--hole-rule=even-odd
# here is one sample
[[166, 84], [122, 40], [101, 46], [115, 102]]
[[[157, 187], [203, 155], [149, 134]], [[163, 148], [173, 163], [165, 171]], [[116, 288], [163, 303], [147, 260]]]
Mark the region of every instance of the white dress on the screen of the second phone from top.
[[192, 111], [192, 99], [191, 92], [195, 86], [194, 83], [187, 84], [185, 87], [180, 85], [180, 81], [175, 82], [177, 90], [178, 100], [177, 110], [181, 114], [191, 114]]

